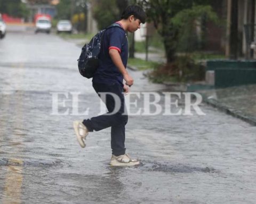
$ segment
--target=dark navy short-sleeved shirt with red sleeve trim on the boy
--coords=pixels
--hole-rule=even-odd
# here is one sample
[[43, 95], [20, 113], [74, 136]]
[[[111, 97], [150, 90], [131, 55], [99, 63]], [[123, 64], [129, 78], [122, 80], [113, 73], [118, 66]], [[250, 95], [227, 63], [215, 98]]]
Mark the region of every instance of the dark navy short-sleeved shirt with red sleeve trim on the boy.
[[114, 84], [123, 86], [123, 75], [119, 72], [109, 56], [109, 49], [118, 50], [124, 66], [128, 60], [128, 41], [122, 28], [113, 27], [105, 31], [102, 39], [101, 52], [99, 54], [100, 65], [93, 75], [92, 82]]

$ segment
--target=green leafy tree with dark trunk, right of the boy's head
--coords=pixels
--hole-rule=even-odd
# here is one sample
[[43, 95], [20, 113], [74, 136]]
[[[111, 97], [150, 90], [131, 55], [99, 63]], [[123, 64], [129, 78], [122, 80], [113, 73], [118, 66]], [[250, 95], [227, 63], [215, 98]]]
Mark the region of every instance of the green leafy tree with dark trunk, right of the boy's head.
[[212, 20], [217, 19], [209, 3], [210, 0], [142, 0], [139, 2], [145, 7], [148, 20], [154, 23], [162, 36], [167, 63], [175, 60], [175, 52], [182, 31], [186, 31], [188, 26], [193, 26], [202, 16], [208, 16], [208, 19]]

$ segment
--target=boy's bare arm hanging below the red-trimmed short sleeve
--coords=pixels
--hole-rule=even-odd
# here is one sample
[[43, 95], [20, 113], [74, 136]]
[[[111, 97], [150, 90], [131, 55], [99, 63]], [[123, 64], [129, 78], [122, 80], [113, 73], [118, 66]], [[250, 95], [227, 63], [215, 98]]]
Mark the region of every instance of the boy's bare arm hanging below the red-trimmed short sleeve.
[[113, 61], [113, 63], [118, 68], [119, 72], [121, 72], [121, 74], [123, 75], [124, 80], [126, 81], [126, 85], [132, 86], [133, 79], [128, 74], [127, 70], [125, 69], [124, 64], [122, 62], [122, 59], [121, 59], [121, 56], [120, 56], [118, 50], [116, 50], [116, 49], [109, 49], [109, 55], [110, 55], [111, 60]]

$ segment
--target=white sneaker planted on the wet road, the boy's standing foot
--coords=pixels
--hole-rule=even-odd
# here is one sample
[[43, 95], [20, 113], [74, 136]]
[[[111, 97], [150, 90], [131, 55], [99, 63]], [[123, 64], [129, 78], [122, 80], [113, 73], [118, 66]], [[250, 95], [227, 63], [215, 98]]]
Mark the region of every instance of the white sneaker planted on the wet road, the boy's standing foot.
[[112, 155], [110, 160], [111, 166], [135, 166], [139, 165], [140, 161], [138, 159], [131, 159], [128, 154], [115, 156]]

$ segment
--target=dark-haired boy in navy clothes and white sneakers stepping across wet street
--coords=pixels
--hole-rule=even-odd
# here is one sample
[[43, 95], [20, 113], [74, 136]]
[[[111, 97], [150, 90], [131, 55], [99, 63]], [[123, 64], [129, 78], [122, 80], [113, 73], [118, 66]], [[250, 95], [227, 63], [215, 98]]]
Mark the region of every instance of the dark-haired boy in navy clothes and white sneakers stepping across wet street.
[[[125, 113], [124, 93], [129, 92], [133, 79], [126, 71], [128, 58], [128, 42], [126, 31], [134, 32], [145, 23], [146, 14], [140, 6], [128, 6], [123, 12], [121, 20], [117, 21], [120, 27], [112, 27], [103, 35], [101, 52], [99, 54], [100, 65], [93, 75], [92, 86], [100, 96], [101, 92], [108, 92], [118, 97], [120, 104], [116, 104], [113, 96], [106, 94], [103, 102], [108, 113], [113, 113], [118, 105], [119, 110], [114, 114], [103, 114], [84, 121], [74, 121], [76, 137], [79, 145], [85, 147], [85, 138], [93, 130], [99, 131], [111, 127], [112, 166], [134, 166], [139, 160], [131, 159], [125, 153], [125, 125], [128, 116]], [[125, 81], [125, 84], [123, 84]]]

